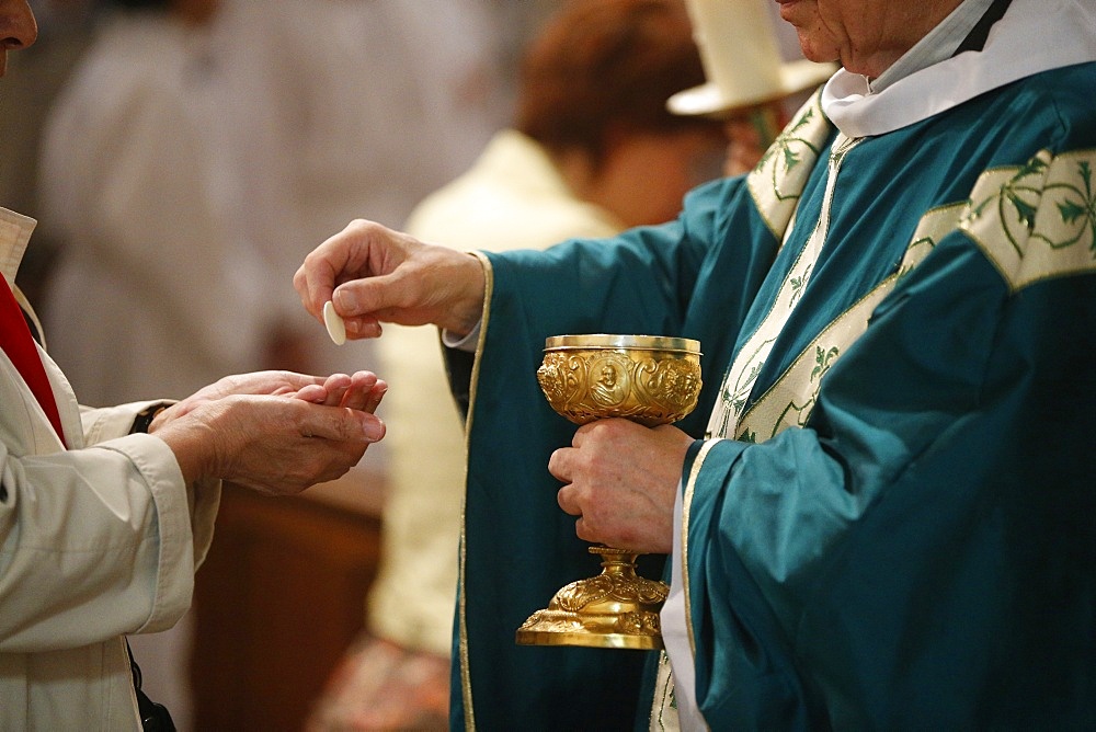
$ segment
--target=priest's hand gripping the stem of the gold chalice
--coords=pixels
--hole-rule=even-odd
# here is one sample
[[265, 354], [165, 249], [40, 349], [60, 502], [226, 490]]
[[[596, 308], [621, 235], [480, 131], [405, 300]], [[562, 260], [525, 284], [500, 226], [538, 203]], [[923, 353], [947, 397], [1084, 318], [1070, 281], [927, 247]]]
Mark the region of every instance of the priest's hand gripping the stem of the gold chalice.
[[673, 512], [693, 438], [677, 427], [644, 427], [621, 419], [579, 427], [571, 447], [548, 461], [566, 485], [559, 506], [578, 516], [580, 539], [618, 549], [670, 553]]

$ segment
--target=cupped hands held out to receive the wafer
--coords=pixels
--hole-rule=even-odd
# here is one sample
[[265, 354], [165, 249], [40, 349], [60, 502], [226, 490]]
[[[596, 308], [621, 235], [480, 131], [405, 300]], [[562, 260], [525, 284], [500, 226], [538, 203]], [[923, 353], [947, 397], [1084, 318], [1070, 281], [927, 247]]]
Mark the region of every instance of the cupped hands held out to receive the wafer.
[[384, 437], [373, 412], [387, 388], [369, 371], [231, 376], [165, 409], [149, 433], [172, 449], [187, 482], [299, 493], [344, 474]]

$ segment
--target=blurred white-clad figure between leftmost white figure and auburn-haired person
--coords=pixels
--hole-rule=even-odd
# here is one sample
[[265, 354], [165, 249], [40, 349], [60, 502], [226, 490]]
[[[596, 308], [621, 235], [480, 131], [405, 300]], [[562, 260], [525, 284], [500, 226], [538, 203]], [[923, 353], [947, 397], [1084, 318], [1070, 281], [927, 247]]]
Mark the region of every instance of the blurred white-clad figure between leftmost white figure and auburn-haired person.
[[273, 357], [368, 363], [372, 345], [332, 344], [283, 285], [310, 242], [363, 210], [401, 225], [467, 168], [502, 118], [499, 27], [486, 0], [222, 3], [218, 197], [277, 283]]

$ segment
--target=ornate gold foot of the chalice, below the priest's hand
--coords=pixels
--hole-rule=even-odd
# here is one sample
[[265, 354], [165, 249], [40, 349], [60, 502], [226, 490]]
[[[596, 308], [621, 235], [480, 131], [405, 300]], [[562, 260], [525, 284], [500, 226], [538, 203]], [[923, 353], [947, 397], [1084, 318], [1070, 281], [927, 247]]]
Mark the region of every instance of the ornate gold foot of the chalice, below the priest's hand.
[[557, 592], [517, 629], [517, 644], [662, 649], [659, 610], [670, 588], [636, 574], [637, 552], [610, 547], [590, 552], [602, 556], [602, 573]]

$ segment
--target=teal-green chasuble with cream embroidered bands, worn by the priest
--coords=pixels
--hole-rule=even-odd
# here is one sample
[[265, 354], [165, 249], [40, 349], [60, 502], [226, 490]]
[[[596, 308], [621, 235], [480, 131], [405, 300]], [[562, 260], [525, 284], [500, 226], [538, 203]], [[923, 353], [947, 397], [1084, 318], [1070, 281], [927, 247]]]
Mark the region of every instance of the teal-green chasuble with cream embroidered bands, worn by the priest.
[[1077, 65], [856, 139], [812, 101], [674, 222], [489, 255], [454, 728], [648, 727], [657, 654], [514, 643], [598, 570], [535, 374], [606, 332], [704, 352], [672, 571], [711, 729], [1092, 729], [1094, 100]]

